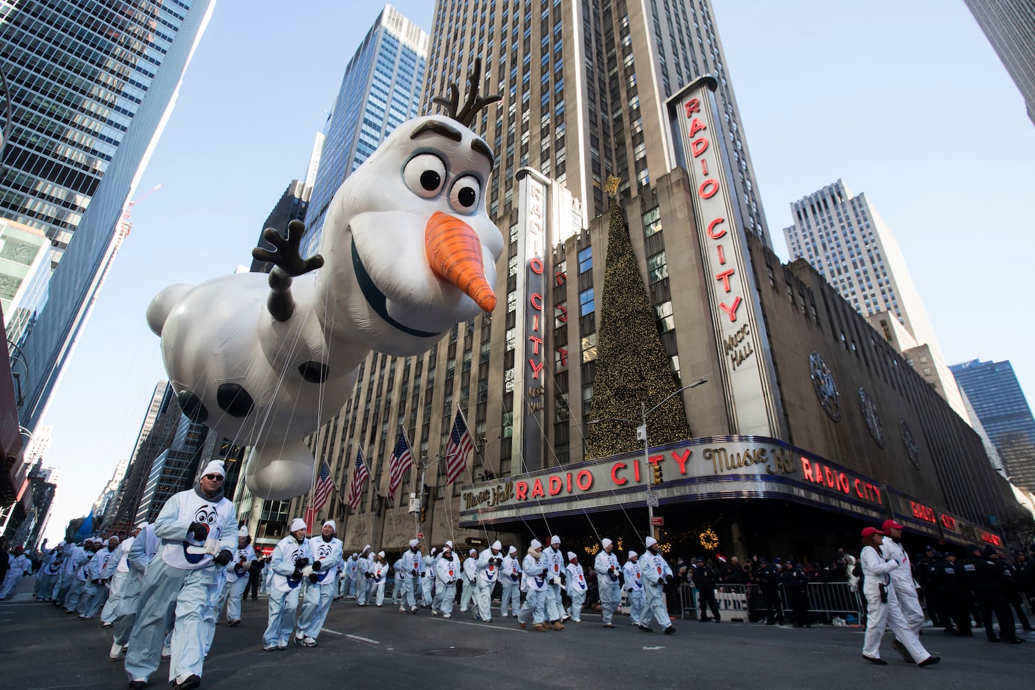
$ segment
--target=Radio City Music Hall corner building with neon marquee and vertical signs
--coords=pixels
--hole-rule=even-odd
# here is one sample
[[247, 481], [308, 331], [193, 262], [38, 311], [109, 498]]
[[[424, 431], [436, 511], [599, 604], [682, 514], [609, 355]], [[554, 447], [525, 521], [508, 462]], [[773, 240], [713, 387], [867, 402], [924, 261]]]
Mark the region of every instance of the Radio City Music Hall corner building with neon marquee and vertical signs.
[[525, 172], [507, 321], [518, 363], [504, 388], [516, 401], [509, 428], [486, 430], [512, 453], [480, 458], [496, 477], [462, 489], [460, 526], [637, 548], [650, 463], [662, 475], [654, 515], [679, 553], [825, 558], [889, 517], [908, 545], [1002, 546], [989, 515], [1014, 501], [980, 438], [807, 262], [781, 265], [744, 232], [712, 137], [713, 89], [703, 78], [669, 100], [679, 168], [623, 204], [678, 386], [707, 380], [682, 393], [692, 438], [652, 446], [646, 461], [585, 459], [608, 217], [550, 252], [556, 185]]

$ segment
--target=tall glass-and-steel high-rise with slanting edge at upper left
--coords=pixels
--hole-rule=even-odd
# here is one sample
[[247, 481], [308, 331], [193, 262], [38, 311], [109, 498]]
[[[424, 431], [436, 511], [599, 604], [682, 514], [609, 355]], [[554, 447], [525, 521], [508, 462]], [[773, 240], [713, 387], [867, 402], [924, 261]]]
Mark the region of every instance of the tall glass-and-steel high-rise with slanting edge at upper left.
[[[69, 4], [0, 0], [0, 69], [12, 128], [0, 215], [42, 232], [47, 289], [8, 318], [28, 366], [33, 428], [121, 240], [120, 218], [176, 100], [214, 0]], [[72, 241], [75, 238], [75, 241]]]

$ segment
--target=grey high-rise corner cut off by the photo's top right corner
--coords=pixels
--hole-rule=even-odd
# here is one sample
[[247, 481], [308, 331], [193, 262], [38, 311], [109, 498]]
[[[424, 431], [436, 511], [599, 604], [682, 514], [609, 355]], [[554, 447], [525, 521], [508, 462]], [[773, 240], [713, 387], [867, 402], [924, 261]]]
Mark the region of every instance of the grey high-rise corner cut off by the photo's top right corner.
[[1028, 0], [965, 0], [996, 55], [1017, 85], [1035, 122], [1035, 4]]

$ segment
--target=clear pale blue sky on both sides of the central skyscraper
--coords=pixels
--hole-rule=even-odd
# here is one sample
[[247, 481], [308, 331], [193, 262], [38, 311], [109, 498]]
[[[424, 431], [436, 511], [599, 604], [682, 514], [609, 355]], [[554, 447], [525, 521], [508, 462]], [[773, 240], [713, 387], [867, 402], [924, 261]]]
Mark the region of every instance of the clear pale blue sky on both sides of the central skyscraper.
[[[394, 4], [431, 27], [432, 0]], [[790, 203], [844, 179], [897, 237], [948, 362], [1009, 359], [1035, 391], [1035, 125], [963, 1], [713, 4], [777, 253]], [[147, 303], [249, 262], [380, 9], [219, 1], [140, 189], [165, 186], [136, 207], [43, 419], [52, 542], [131, 453], [165, 376]]]

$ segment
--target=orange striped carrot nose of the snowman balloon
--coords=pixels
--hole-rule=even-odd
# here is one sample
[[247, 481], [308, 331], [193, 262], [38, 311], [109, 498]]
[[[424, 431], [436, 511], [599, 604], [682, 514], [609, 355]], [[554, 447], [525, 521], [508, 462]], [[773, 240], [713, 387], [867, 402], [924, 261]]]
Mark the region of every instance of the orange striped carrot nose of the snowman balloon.
[[471, 226], [436, 211], [424, 229], [424, 253], [435, 275], [456, 286], [482, 311], [496, 307], [496, 294], [485, 280], [481, 242]]

